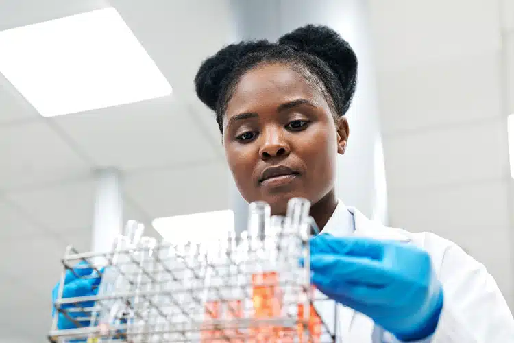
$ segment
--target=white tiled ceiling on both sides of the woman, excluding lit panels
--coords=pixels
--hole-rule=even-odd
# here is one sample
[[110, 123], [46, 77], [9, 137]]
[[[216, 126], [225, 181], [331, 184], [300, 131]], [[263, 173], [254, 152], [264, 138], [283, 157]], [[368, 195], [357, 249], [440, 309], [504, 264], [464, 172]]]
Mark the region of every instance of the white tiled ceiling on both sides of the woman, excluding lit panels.
[[[369, 1], [391, 224], [457, 241], [511, 305], [514, 97], [502, 75], [514, 84], [514, 68], [502, 58], [514, 59], [513, 2]], [[228, 206], [217, 126], [193, 77], [234, 36], [230, 0], [4, 0], [0, 30], [109, 5], [173, 96], [45, 119], [0, 74], [0, 343], [45, 341], [64, 247], [90, 244], [95, 169], [121, 170], [125, 217], [147, 224]]]

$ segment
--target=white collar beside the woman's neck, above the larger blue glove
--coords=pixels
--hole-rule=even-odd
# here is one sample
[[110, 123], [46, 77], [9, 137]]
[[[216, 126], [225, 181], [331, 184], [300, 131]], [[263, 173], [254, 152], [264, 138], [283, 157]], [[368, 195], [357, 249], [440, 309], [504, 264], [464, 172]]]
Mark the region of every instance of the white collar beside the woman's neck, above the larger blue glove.
[[370, 220], [358, 209], [346, 206], [341, 200], [338, 200], [334, 213], [321, 232], [339, 237], [355, 235], [389, 241], [411, 241], [400, 231]]

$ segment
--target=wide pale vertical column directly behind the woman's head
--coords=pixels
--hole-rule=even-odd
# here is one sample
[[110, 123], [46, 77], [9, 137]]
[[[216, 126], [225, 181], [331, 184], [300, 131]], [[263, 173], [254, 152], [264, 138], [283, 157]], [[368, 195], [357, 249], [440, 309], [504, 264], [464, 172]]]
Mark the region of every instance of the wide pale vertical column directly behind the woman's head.
[[[308, 23], [332, 27], [355, 49], [359, 78], [354, 103], [347, 113], [350, 139], [338, 161], [336, 191], [347, 205], [387, 222], [387, 190], [378, 118], [371, 38], [364, 0], [232, 0], [239, 39], [269, 39]], [[247, 204], [229, 180], [236, 230], [246, 228]]]

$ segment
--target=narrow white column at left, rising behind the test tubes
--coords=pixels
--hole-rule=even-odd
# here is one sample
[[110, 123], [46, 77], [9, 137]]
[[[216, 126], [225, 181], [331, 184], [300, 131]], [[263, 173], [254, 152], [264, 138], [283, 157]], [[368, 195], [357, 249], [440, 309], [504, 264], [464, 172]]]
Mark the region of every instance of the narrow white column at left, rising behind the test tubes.
[[95, 171], [96, 198], [93, 214], [94, 252], [105, 252], [112, 248], [112, 241], [123, 227], [123, 197], [120, 175], [116, 169]]

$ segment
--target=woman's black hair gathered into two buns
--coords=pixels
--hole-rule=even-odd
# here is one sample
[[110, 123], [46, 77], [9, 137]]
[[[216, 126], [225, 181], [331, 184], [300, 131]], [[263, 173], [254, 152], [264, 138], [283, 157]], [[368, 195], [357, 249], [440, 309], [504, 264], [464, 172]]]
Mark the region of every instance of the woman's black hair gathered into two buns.
[[279, 38], [231, 44], [205, 60], [195, 77], [196, 93], [216, 113], [223, 132], [223, 115], [241, 76], [262, 64], [284, 63], [326, 97], [334, 117], [345, 115], [355, 93], [357, 57], [337, 32], [306, 25]]

